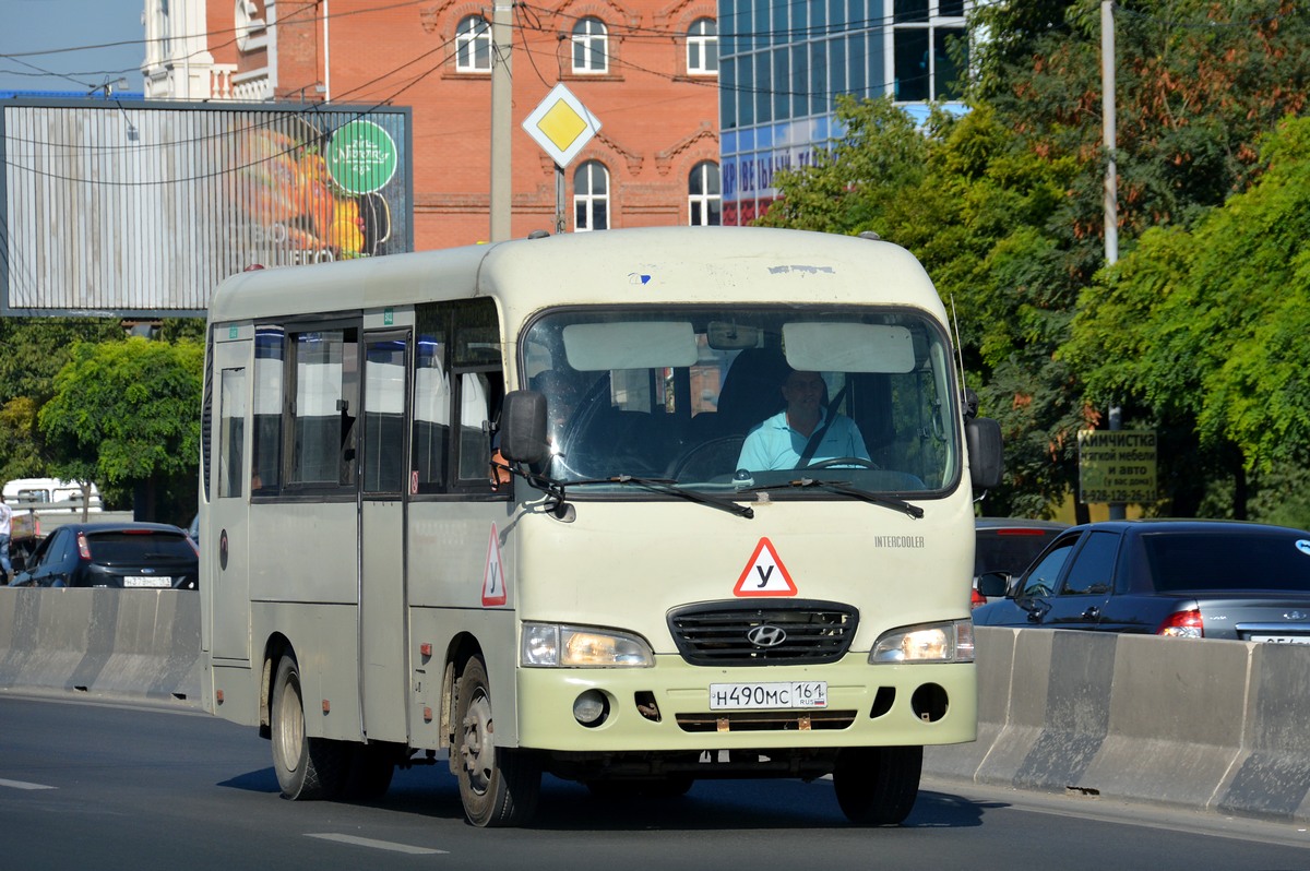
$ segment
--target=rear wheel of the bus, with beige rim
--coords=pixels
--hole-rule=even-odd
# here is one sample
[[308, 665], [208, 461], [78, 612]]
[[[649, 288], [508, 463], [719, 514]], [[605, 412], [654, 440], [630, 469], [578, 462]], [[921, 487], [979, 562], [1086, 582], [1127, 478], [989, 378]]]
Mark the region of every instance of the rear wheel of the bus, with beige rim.
[[305, 706], [300, 667], [293, 656], [278, 661], [272, 682], [272, 769], [282, 798], [292, 800], [333, 799], [346, 778], [346, 745], [305, 735]]

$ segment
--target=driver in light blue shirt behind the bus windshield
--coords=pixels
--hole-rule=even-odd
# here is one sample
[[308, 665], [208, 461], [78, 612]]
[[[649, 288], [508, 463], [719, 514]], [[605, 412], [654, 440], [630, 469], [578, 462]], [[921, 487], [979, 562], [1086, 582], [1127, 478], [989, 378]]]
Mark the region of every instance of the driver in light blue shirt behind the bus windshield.
[[[790, 369], [781, 386], [787, 407], [747, 434], [738, 469], [798, 469], [838, 457], [869, 461], [855, 422], [841, 414], [828, 418], [828, 385], [821, 375]], [[816, 443], [807, 452], [811, 440]]]

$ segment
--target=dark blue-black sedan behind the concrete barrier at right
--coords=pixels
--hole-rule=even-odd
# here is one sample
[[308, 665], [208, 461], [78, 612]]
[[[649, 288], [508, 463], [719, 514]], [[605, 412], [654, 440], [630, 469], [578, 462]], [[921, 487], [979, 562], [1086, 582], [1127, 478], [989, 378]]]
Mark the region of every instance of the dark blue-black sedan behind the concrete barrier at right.
[[1310, 532], [1221, 520], [1111, 520], [1070, 527], [1017, 580], [986, 574], [1001, 601], [979, 626], [1083, 629], [1310, 644]]

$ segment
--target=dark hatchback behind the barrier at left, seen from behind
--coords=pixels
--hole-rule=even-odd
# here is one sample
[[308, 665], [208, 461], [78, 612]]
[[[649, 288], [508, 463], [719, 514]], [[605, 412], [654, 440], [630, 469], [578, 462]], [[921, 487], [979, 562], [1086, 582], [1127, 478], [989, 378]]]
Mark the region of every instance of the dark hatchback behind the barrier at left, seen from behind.
[[160, 523], [59, 527], [14, 575], [10, 587], [195, 589], [199, 557], [186, 532]]

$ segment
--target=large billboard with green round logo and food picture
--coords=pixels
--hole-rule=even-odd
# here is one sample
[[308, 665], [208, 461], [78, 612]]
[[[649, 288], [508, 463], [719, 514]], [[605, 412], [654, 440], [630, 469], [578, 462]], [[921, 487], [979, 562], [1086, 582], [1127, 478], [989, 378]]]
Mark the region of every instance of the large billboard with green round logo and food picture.
[[0, 101], [0, 314], [199, 316], [228, 275], [413, 250], [406, 107]]

